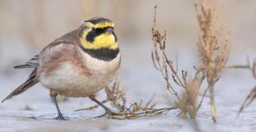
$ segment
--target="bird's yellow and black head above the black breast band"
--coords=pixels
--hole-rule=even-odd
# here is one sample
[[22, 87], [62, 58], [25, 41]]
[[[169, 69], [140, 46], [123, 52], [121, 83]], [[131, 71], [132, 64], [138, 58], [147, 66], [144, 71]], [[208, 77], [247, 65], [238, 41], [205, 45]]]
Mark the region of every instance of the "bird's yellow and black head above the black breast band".
[[117, 49], [114, 24], [107, 18], [91, 18], [79, 27], [80, 46], [86, 49]]

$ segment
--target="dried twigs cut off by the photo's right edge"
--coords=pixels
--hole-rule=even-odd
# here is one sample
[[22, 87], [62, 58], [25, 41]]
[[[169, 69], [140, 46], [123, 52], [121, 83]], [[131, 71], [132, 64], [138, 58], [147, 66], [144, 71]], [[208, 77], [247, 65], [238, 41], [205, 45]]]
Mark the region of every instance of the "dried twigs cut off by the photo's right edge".
[[[252, 72], [252, 77], [256, 79], [256, 59], [254, 59], [254, 62], [251, 65], [249, 57], [247, 57], [246, 65], [235, 65], [235, 66], [230, 66], [228, 68], [250, 70]], [[254, 99], [256, 99], [256, 85], [254, 86], [252, 91], [247, 95], [243, 105], [239, 109], [238, 114], [240, 114], [244, 110], [245, 106], [249, 106]]]

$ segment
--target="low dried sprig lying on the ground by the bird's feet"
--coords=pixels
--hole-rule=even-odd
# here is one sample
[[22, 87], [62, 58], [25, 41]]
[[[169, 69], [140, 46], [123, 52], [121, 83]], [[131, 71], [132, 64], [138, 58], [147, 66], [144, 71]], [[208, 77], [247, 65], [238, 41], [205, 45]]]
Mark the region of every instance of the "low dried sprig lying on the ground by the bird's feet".
[[[126, 92], [127, 89], [120, 86], [120, 81], [117, 78], [114, 83], [105, 88], [107, 99], [104, 99], [102, 103], [110, 102], [111, 106], [117, 108], [117, 112], [110, 115], [109, 118], [117, 120], [137, 119], [139, 117], [147, 115], [158, 115], [168, 113], [170, 110], [176, 109], [173, 107], [155, 108], [156, 103], [153, 103], [154, 96], [147, 101], [146, 104], [143, 101], [133, 102], [132, 105], [127, 106], [126, 104]], [[87, 108], [78, 109], [75, 111], [92, 110], [98, 108], [98, 105], [89, 106]]]

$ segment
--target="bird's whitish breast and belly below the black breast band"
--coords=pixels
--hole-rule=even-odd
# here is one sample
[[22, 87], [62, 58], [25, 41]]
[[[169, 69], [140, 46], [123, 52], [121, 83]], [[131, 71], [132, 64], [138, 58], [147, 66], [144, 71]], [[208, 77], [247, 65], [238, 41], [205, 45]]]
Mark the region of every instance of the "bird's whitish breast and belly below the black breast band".
[[85, 57], [90, 75], [82, 74], [71, 63], [64, 62], [48, 76], [42, 72], [41, 84], [67, 97], [87, 97], [102, 90], [117, 76], [120, 55], [111, 62]]

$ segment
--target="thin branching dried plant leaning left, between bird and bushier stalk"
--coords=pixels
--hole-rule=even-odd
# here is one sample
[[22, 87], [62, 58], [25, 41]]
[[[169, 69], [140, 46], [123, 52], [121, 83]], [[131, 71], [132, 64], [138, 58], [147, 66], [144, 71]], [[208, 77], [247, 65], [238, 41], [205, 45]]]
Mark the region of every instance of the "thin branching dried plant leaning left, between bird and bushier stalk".
[[[192, 78], [192, 81], [188, 81], [188, 71], [178, 71], [177, 57], [176, 64], [169, 59], [166, 54], [166, 32], [161, 33], [156, 28], [156, 7], [157, 6], [154, 7], [154, 23], [152, 27], [154, 49], [151, 52], [154, 68], [161, 73], [168, 92], [176, 97], [175, 106], [181, 110], [180, 114], [183, 115], [183, 117], [186, 117], [186, 114], [189, 114], [193, 119], [201, 106], [202, 99], [205, 97], [204, 93], [200, 104], [197, 106], [196, 99], [198, 97], [200, 85], [206, 76], [202, 70], [198, 70], [194, 67], [196, 73]], [[173, 81], [174, 85], [172, 85], [170, 81]], [[177, 93], [177, 87], [183, 90], [183, 94]]]

